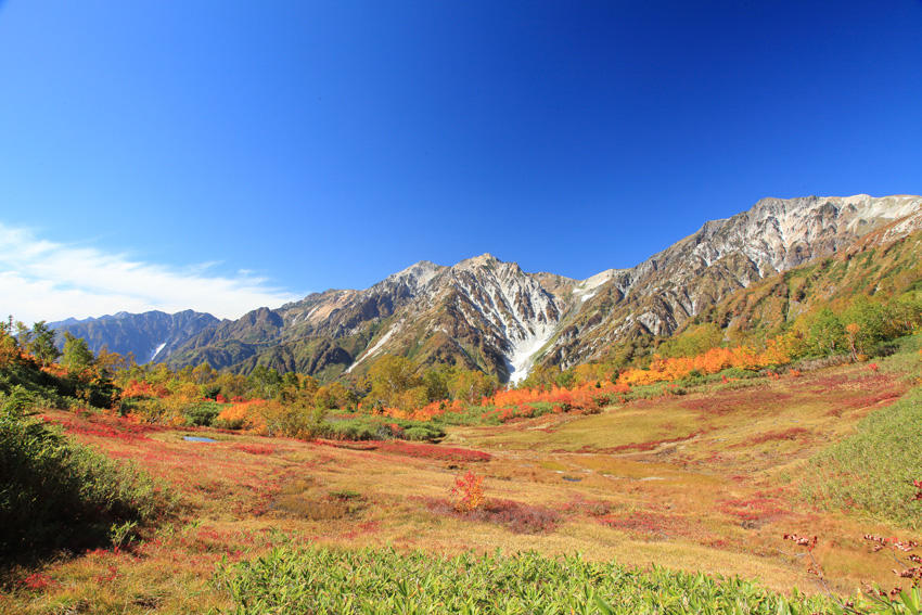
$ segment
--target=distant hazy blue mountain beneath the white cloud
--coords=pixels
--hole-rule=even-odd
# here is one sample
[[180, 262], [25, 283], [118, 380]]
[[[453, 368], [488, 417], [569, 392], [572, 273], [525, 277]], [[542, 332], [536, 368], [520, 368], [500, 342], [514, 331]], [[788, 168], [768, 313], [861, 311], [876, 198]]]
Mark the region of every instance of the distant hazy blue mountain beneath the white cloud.
[[65, 331], [87, 341], [94, 353], [103, 346], [110, 350], [126, 355], [133, 353], [139, 363], [165, 361], [181, 344], [202, 330], [214, 326], [219, 320], [210, 313], [192, 310], [165, 313], [148, 311], [75, 320], [69, 318], [52, 322], [50, 326], [59, 332], [57, 343], [63, 345]]

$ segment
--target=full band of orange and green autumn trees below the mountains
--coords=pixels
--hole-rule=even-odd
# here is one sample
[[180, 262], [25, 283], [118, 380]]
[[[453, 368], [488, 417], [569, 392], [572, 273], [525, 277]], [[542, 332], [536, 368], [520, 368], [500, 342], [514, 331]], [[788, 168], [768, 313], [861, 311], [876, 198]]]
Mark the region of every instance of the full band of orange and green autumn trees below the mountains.
[[[646, 356], [629, 363], [610, 360], [566, 370], [538, 366], [516, 387], [523, 393], [512, 395], [483, 371], [447, 364], [421, 368], [386, 355], [363, 376], [326, 383], [265, 366], [245, 375], [207, 363], [170, 370], [163, 363], [138, 364], [105, 348], [93, 354], [84, 339], [67, 333], [59, 350], [55, 332], [44, 322], [29, 328], [11, 318], [0, 324], [0, 394], [10, 397], [28, 389], [37, 405], [94, 406], [148, 422], [305, 436], [335, 431], [331, 425], [349, 415], [431, 421], [451, 412], [470, 419], [596, 410], [635, 386], [723, 370], [771, 370], [811, 357], [865, 360], [886, 354], [888, 344], [920, 324], [922, 302], [865, 296], [837, 308], [807, 311], [774, 331], [744, 332], [742, 338], [737, 333], [732, 342], [728, 330], [697, 322], [656, 341]], [[331, 421], [330, 411], [346, 419]]]

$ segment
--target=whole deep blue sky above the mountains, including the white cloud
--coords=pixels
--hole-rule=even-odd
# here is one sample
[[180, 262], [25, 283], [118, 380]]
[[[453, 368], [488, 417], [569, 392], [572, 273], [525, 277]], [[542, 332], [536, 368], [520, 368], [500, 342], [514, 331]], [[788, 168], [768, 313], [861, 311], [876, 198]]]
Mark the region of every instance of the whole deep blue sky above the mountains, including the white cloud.
[[922, 193], [922, 2], [0, 4], [0, 311], [240, 316]]

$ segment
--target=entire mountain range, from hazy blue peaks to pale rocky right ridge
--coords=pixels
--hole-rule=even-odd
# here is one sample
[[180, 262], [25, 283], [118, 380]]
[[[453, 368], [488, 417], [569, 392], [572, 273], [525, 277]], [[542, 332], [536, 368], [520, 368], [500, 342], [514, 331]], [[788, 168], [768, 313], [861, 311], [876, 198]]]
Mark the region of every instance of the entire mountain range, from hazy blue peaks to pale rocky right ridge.
[[[915, 276], [911, 284], [919, 271], [910, 256], [919, 246], [907, 238], [920, 229], [920, 196], [764, 198], [747, 212], [706, 222], [636, 267], [586, 280], [527, 273], [485, 254], [452, 267], [423, 260], [363, 291], [315, 293], [238, 320], [146, 312], [53, 326], [85, 337], [93, 350], [107, 345], [171, 368], [207, 361], [249, 373], [262, 364], [328, 381], [361, 375], [387, 354], [421, 366], [482, 369], [515, 382], [536, 364], [569, 368], [629, 354], [693, 319], [719, 316], [738, 329], [756, 321], [777, 326], [796, 316], [808, 295], [835, 297], [814, 274], [798, 286], [791, 282], [796, 276], [768, 286], [758, 282], [805, 264], [821, 267], [817, 259], [825, 257], [851, 255], [837, 260], [845, 269], [834, 270], [842, 272], [833, 284], [840, 293], [857, 290], [853, 281], [873, 280], [873, 255], [883, 257], [886, 249], [904, 254], [894, 283]], [[888, 247], [899, 245], [909, 247]], [[868, 284], [861, 290], [876, 291]], [[752, 293], [734, 294], [741, 290]], [[755, 305], [758, 293], [766, 296]]]

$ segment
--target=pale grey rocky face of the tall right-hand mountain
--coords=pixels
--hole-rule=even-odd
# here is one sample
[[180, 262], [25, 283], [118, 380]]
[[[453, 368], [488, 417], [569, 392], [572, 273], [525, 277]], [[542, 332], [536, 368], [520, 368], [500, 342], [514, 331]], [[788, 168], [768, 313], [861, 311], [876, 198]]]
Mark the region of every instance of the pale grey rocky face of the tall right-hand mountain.
[[885, 229], [886, 241], [922, 228], [922, 197], [763, 198], [706, 222], [631, 269], [611, 272], [562, 323], [542, 359], [563, 367], [606, 355], [638, 335], [668, 335], [689, 318], [756, 280], [851, 245]]

